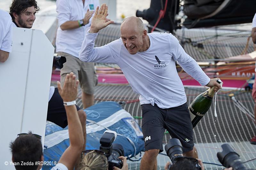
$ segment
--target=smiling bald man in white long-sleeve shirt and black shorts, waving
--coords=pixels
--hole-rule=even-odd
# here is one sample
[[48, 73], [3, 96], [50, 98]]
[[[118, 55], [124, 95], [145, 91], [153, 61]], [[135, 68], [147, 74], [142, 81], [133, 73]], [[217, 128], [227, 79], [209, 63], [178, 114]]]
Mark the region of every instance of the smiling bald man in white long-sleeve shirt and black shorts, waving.
[[94, 48], [99, 30], [114, 22], [106, 22], [107, 14], [106, 4], [97, 7], [79, 58], [85, 62], [116, 63], [133, 91], [140, 94], [145, 144], [140, 169], [157, 169], [156, 157], [163, 152], [165, 129], [180, 140], [184, 156], [197, 158], [187, 97], [175, 61], [201, 85], [215, 86], [215, 91], [221, 88], [216, 81], [219, 78], [210, 79], [172, 34], [147, 33], [137, 17], [123, 21], [120, 39]]

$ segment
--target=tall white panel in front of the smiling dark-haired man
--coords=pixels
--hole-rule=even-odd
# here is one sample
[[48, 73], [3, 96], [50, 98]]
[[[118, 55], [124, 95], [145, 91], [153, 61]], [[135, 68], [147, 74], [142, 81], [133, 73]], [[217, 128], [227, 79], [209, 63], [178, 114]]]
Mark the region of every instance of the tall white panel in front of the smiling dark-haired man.
[[12, 53], [0, 63], [1, 170], [15, 169], [9, 144], [17, 134], [31, 130], [44, 141], [53, 53], [41, 30], [13, 28]]

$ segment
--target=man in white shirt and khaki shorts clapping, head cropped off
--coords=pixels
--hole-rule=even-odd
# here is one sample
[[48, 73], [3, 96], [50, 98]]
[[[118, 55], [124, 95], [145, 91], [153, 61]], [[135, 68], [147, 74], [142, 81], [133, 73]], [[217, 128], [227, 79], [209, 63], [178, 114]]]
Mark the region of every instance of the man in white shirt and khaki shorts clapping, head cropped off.
[[84, 108], [94, 104], [94, 87], [97, 76], [94, 63], [79, 60], [78, 55], [85, 37], [85, 29], [91, 25], [93, 11], [99, 6], [98, 0], [57, 0], [59, 28], [56, 35], [56, 52], [65, 56], [67, 62], [60, 70], [60, 82], [64, 83], [66, 74], [73, 72], [80, 81]]

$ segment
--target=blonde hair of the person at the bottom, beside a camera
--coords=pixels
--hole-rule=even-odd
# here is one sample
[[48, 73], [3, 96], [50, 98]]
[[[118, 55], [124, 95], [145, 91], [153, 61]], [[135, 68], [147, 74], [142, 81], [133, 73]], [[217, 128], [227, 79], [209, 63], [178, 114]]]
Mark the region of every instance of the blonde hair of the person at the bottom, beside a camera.
[[108, 170], [108, 159], [103, 153], [91, 151], [83, 154], [78, 170]]

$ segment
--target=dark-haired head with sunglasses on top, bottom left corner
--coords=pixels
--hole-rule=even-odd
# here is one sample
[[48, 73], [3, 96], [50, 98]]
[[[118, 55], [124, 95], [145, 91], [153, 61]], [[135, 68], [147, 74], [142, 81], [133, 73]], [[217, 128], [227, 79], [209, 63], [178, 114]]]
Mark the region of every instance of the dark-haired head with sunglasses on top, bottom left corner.
[[[41, 136], [32, 134], [31, 131], [28, 134], [19, 134], [19, 137], [11, 142], [10, 148], [12, 152], [12, 162], [15, 162], [16, 170], [39, 170], [42, 165], [36, 162], [43, 161], [43, 148], [41, 143]], [[26, 163], [26, 165], [22, 165]], [[27, 165], [29, 164], [30, 165]]]

